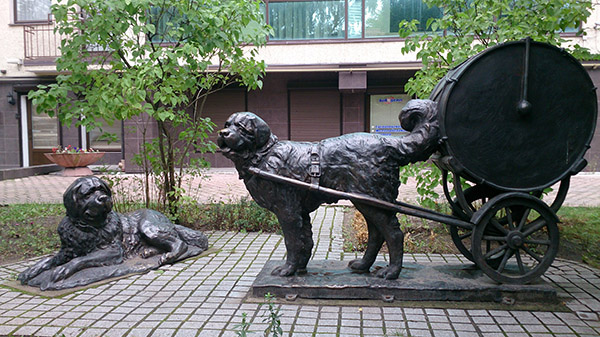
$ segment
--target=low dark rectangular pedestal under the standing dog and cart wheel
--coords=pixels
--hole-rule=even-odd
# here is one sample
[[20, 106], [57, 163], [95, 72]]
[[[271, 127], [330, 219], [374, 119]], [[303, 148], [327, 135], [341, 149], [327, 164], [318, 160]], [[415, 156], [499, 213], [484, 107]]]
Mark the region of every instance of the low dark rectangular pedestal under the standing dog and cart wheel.
[[379, 299], [392, 301], [470, 301], [557, 303], [556, 290], [538, 280], [527, 285], [503, 285], [489, 279], [473, 265], [404, 263], [397, 280], [375, 276], [385, 266], [376, 263], [371, 273], [356, 274], [347, 261], [311, 261], [307, 273], [291, 277], [272, 276], [284, 261], [268, 261], [252, 285], [252, 294], [271, 293], [295, 299]]

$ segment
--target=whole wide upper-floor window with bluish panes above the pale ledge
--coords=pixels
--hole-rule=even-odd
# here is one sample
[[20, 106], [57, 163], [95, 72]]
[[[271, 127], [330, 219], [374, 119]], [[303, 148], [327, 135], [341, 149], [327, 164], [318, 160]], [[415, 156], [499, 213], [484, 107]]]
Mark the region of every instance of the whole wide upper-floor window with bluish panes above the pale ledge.
[[402, 20], [425, 29], [427, 19], [442, 15], [422, 0], [271, 0], [264, 10], [271, 40], [397, 37]]

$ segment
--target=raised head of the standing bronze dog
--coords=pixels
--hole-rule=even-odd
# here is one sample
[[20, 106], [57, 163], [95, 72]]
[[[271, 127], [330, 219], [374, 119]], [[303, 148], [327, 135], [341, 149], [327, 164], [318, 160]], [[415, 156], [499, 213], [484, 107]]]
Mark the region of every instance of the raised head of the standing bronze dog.
[[251, 112], [236, 112], [229, 116], [225, 128], [219, 130], [217, 143], [223, 155], [230, 159], [247, 159], [276, 139], [269, 125]]

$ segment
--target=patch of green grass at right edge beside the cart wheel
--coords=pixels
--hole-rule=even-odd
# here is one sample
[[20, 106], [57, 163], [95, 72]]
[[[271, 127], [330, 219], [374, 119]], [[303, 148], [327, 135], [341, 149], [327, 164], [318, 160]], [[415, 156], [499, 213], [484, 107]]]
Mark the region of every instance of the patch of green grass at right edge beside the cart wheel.
[[573, 255], [600, 268], [600, 207], [563, 207], [558, 217], [561, 247], [573, 246]]

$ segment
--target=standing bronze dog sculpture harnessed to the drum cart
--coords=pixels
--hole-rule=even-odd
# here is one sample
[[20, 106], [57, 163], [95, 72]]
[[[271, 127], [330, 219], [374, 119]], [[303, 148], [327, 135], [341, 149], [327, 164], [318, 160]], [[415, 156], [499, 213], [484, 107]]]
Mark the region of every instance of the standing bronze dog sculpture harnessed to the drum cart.
[[[223, 155], [235, 163], [240, 179], [254, 200], [275, 213], [283, 230], [287, 260], [272, 271], [273, 275], [290, 276], [306, 270], [313, 248], [309, 214], [319, 205], [338, 199], [261, 178], [250, 169], [393, 202], [398, 196], [400, 167], [427, 160], [439, 140], [435, 102], [409, 101], [399, 118], [402, 127], [411, 131], [404, 137], [353, 133], [308, 143], [279, 141], [269, 126], [250, 112], [229, 117], [225, 128], [219, 131], [218, 145]], [[363, 258], [350, 261], [349, 267], [356, 272], [368, 272], [385, 241], [390, 262], [377, 276], [398, 278], [402, 270], [404, 233], [396, 213], [352, 202], [367, 220], [369, 238]]]

